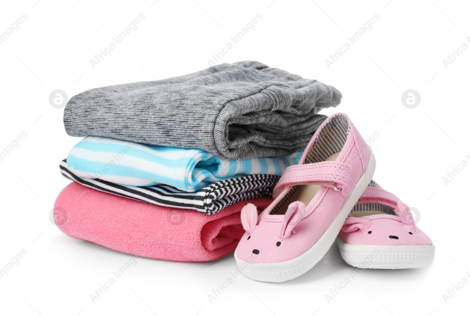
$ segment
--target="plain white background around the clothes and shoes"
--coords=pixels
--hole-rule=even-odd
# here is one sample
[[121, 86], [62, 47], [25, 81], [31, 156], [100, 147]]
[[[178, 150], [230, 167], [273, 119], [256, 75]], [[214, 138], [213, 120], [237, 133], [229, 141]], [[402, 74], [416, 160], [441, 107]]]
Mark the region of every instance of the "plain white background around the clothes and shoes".
[[[470, 271], [470, 49], [445, 68], [442, 60], [470, 36], [469, 6], [443, 0], [266, 1], [3, 1], [0, 32], [23, 13], [20, 29], [0, 45], [0, 151], [22, 131], [18, 148], [0, 161], [0, 267], [22, 248], [20, 264], [0, 279], [3, 315], [463, 315], [470, 284], [447, 302], [443, 294]], [[100, 64], [90, 59], [140, 13], [145, 19]], [[72, 239], [48, 219], [70, 181], [58, 163], [79, 140], [63, 128], [69, 98], [98, 86], [155, 80], [208, 67], [208, 59], [256, 14], [262, 19], [221, 62], [255, 59], [343, 93], [337, 111], [351, 116], [377, 159], [374, 179], [419, 210], [418, 226], [436, 245], [432, 267], [364, 270], [337, 297], [325, 294], [353, 268], [334, 244], [294, 280], [262, 283], [238, 277], [216, 300], [208, 294], [236, 269], [233, 254], [203, 263], [141, 258], [94, 303], [90, 294], [130, 258]], [[374, 14], [380, 18], [328, 68], [335, 53]], [[467, 42], [468, 43], [468, 42]], [[468, 43], [470, 44], [470, 43]], [[418, 107], [401, 95], [414, 89]], [[470, 273], [470, 272], [469, 272]]]

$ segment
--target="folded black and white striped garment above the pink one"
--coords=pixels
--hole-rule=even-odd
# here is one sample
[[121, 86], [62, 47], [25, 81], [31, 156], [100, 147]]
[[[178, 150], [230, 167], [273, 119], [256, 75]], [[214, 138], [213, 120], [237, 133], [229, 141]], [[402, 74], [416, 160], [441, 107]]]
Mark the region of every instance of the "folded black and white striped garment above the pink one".
[[90, 188], [117, 194], [156, 205], [189, 208], [211, 215], [238, 201], [254, 198], [271, 198], [277, 175], [248, 175], [214, 182], [196, 192], [180, 191], [170, 185], [133, 186], [118, 185], [97, 178], [78, 177], [67, 168], [67, 160], [60, 162], [65, 177]]

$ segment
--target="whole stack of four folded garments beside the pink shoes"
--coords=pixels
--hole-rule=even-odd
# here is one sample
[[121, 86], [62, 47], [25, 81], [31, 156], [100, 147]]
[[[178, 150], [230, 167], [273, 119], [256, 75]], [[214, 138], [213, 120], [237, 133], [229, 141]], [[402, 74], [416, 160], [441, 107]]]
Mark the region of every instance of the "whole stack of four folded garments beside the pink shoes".
[[60, 163], [74, 180], [57, 197], [58, 227], [129, 254], [220, 258], [244, 230], [240, 210], [272, 201], [341, 93], [260, 62], [221, 64], [164, 80], [91, 89], [64, 109], [85, 137]]

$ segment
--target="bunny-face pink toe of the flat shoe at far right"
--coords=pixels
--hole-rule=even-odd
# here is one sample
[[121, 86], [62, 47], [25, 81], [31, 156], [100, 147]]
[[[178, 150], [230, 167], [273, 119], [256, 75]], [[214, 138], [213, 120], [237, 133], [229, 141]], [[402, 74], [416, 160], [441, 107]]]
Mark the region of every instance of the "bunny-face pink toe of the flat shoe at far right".
[[[406, 218], [410, 218], [407, 215]], [[348, 216], [339, 237], [350, 245], [432, 245], [414, 221], [388, 214]]]

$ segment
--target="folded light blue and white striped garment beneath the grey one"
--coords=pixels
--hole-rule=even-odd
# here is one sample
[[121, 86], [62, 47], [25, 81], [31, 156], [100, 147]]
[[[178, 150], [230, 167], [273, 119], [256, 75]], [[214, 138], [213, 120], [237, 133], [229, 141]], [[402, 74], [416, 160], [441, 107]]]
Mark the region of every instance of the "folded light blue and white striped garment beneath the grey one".
[[249, 174], [281, 175], [302, 152], [285, 157], [226, 160], [202, 149], [150, 146], [88, 136], [67, 156], [67, 167], [80, 177], [121, 185], [165, 184], [194, 192], [213, 182]]

